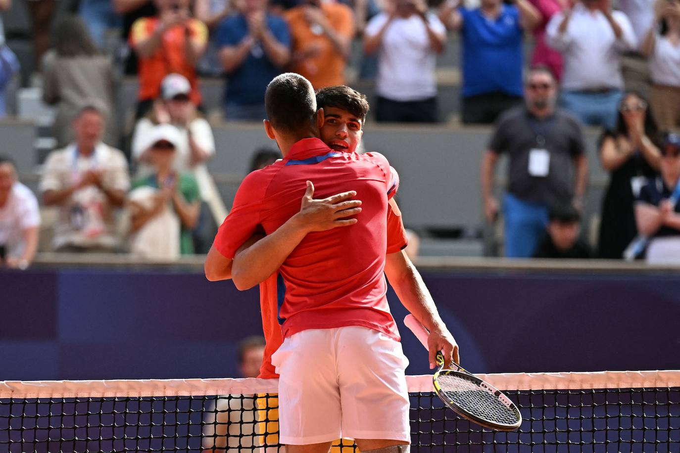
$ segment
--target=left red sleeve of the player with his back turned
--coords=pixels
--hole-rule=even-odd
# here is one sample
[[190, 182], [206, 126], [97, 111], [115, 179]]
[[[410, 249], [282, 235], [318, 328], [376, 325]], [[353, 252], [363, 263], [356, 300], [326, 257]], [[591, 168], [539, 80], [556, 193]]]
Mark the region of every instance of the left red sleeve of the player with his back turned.
[[214, 246], [225, 258], [233, 259], [236, 251], [252, 236], [260, 224], [262, 202], [267, 183], [261, 171], [250, 173], [239, 187], [231, 213], [226, 216], [215, 236]]

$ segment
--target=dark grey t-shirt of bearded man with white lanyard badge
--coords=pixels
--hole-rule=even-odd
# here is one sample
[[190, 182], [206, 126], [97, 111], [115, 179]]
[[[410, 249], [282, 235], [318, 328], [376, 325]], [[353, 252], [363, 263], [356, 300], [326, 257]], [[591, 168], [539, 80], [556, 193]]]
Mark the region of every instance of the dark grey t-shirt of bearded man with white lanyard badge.
[[[498, 119], [489, 149], [508, 154], [508, 190], [517, 198], [549, 204], [571, 203], [574, 159], [585, 153], [581, 126], [571, 114], [557, 109], [550, 117], [539, 120], [526, 107], [510, 109]], [[549, 154], [546, 176], [529, 173], [532, 149], [545, 149]]]

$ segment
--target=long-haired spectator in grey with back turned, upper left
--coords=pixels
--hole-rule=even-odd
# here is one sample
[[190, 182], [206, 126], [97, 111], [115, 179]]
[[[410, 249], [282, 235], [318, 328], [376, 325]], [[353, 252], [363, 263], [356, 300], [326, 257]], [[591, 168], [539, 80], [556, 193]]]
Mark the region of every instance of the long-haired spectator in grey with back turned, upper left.
[[114, 69], [101, 54], [78, 16], [65, 16], [54, 24], [54, 48], [43, 56], [43, 101], [56, 105], [53, 133], [57, 147], [73, 141], [71, 122], [83, 99], [97, 100], [105, 111], [105, 143], [115, 145], [116, 124], [112, 118]]

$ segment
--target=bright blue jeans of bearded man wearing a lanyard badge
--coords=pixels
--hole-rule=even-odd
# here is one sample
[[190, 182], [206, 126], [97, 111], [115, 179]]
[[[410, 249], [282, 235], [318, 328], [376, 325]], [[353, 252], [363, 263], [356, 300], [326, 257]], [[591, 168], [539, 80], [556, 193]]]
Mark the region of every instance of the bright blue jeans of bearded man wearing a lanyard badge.
[[545, 236], [548, 205], [520, 200], [511, 194], [503, 198], [505, 218], [505, 256], [530, 258]]

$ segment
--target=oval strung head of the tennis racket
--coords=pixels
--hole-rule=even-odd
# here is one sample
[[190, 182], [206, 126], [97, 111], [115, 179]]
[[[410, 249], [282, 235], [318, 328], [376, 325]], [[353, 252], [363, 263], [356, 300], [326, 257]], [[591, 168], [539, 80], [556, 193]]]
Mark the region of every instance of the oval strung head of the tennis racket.
[[519, 421], [517, 413], [499, 397], [480, 388], [476, 382], [452, 375], [440, 375], [437, 383], [458, 407], [483, 420], [496, 424], [513, 425]]

